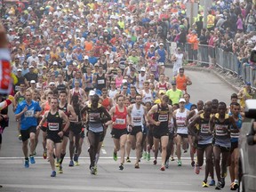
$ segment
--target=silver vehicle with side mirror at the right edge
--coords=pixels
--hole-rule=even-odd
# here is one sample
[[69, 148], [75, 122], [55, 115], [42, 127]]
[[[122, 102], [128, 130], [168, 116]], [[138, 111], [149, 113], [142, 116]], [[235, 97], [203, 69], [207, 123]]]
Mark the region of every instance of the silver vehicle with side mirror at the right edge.
[[239, 137], [239, 191], [256, 192], [256, 100], [245, 100]]

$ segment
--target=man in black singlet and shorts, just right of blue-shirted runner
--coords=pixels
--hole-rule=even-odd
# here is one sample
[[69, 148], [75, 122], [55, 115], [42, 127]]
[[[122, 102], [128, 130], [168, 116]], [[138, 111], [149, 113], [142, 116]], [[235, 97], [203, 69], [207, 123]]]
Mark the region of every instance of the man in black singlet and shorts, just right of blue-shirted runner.
[[[43, 119], [40, 124], [38, 124], [37, 129], [41, 129], [42, 125], [47, 121], [47, 156], [52, 167], [51, 177], [56, 177], [54, 156], [57, 158], [57, 163], [60, 162], [60, 150], [61, 150], [61, 140], [64, 133], [68, 130], [69, 121], [68, 116], [65, 115], [60, 109], [58, 109], [58, 99], [51, 99], [51, 108], [49, 111], [44, 113]], [[62, 129], [62, 123], [65, 122], [65, 126]], [[55, 151], [53, 152], [53, 149]], [[62, 170], [62, 166], [59, 167]]]

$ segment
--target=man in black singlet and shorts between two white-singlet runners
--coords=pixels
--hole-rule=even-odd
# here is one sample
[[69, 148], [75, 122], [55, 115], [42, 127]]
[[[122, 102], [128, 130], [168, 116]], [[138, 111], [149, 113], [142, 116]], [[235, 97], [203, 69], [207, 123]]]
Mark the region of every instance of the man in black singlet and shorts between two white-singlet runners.
[[[154, 124], [153, 136], [154, 136], [154, 148], [158, 150], [159, 142], [161, 141], [162, 148], [162, 163], [161, 171], [165, 170], [164, 164], [166, 159], [166, 148], [169, 140], [169, 128], [168, 124], [172, 119], [172, 106], [168, 105], [169, 98], [164, 95], [161, 98], [161, 103], [153, 106], [147, 114], [148, 122]], [[153, 115], [153, 118], [152, 118]], [[156, 159], [155, 159], [156, 160]]]

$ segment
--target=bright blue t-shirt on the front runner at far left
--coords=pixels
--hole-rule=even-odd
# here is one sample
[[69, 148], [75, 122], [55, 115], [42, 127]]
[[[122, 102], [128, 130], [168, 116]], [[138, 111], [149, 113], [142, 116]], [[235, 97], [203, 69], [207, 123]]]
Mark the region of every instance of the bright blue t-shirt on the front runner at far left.
[[20, 130], [28, 130], [31, 126], [37, 126], [37, 121], [35, 114], [37, 111], [41, 111], [42, 108], [39, 106], [38, 102], [31, 100], [31, 104], [28, 105], [26, 100], [19, 103], [15, 115], [20, 114], [20, 112], [27, 106], [28, 111], [26, 111], [20, 117]]

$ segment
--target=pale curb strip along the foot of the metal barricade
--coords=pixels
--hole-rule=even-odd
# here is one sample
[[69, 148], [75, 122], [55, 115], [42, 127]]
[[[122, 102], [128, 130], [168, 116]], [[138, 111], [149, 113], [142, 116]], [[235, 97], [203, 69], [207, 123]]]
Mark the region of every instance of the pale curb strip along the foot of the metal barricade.
[[[167, 68], [172, 68], [171, 65], [166, 66]], [[240, 91], [240, 87], [237, 87], [236, 85], [232, 84], [231, 82], [228, 81], [227, 78], [225, 78], [224, 76], [220, 75], [220, 72], [215, 71], [214, 69], [207, 69], [207, 68], [200, 68], [200, 67], [188, 67], [188, 66], [183, 66], [183, 68], [185, 68], [186, 70], [191, 70], [191, 71], [199, 71], [199, 72], [204, 72], [204, 73], [212, 73], [214, 76], [217, 76], [218, 78], [220, 78], [221, 81], [225, 82], [226, 84], [228, 84], [235, 92], [239, 92]]]

